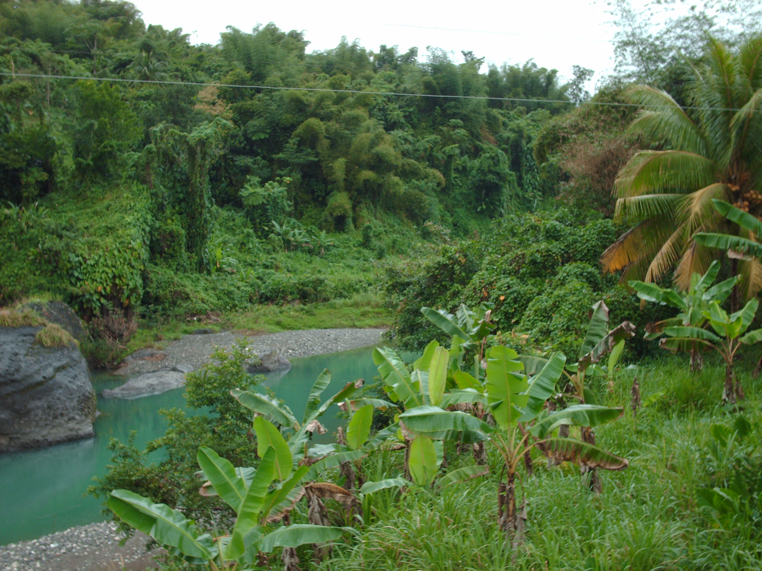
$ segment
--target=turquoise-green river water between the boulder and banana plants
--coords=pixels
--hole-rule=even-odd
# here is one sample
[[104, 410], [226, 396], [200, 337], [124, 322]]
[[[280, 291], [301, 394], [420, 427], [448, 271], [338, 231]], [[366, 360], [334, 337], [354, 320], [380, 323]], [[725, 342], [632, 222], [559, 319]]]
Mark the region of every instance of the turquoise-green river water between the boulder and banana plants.
[[[299, 416], [315, 378], [324, 368], [331, 372], [331, 384], [323, 393], [335, 394], [348, 381], [377, 375], [371, 357], [372, 347], [354, 349], [305, 359], [293, 359], [288, 372], [273, 372], [266, 385], [286, 401]], [[95, 391], [114, 388], [124, 378], [93, 375]], [[93, 439], [67, 442], [40, 450], [0, 455], [0, 545], [102, 521], [101, 500], [83, 496], [93, 476], [104, 474], [110, 461], [106, 445], [111, 438], [125, 441], [131, 430], [137, 431], [136, 445], [142, 448], [149, 440], [164, 434], [167, 424], [158, 414], [162, 408], [184, 407], [183, 388], [135, 400], [101, 399], [95, 420]], [[322, 417], [327, 438], [338, 428], [336, 407]], [[155, 453], [156, 459], [160, 452]]]

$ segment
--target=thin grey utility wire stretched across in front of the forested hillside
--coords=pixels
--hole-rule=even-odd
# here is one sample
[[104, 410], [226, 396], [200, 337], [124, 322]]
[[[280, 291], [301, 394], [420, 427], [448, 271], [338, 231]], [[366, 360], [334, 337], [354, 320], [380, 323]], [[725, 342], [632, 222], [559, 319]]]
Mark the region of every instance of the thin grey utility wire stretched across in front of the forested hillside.
[[[562, 103], [572, 104], [574, 101], [562, 100], [562, 99], [521, 99], [520, 97], [488, 97], [486, 95], [435, 95], [427, 93], [400, 93], [397, 91], [360, 91], [359, 89], [328, 89], [328, 88], [287, 88], [287, 87], [274, 87], [272, 85], [234, 85], [226, 83], [202, 83], [200, 81], [169, 81], [159, 79], [126, 79], [126, 78], [94, 78], [79, 75], [46, 75], [41, 73], [11, 73], [0, 72], [0, 76], [11, 77], [24, 77], [24, 78], [43, 78], [43, 79], [77, 79], [85, 81], [114, 81], [119, 83], [144, 83], [150, 85], [197, 85], [199, 87], [216, 87], [216, 88], [242, 88], [242, 89], [272, 89], [277, 91], [326, 91], [331, 93], [356, 93], [367, 95], [401, 95], [402, 97], [441, 97], [448, 99], [475, 99], [475, 100], [491, 100], [491, 101], [514, 101], [517, 103]], [[672, 108], [668, 105], [641, 105], [636, 103], [616, 103], [613, 101], [584, 101], [582, 105], [602, 105], [606, 107], [647, 107], [650, 109], [665, 107]], [[692, 110], [713, 110], [713, 111], [740, 111], [740, 109], [732, 109], [729, 107], [680, 107], [680, 109], [692, 109]], [[755, 109], [754, 111], [759, 111]]]

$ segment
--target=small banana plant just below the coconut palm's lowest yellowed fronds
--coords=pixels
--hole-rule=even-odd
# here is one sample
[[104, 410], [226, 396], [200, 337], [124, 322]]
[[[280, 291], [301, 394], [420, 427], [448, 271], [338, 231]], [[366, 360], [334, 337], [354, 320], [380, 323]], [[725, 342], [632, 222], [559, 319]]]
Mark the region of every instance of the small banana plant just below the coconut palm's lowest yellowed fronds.
[[[645, 327], [645, 339], [657, 339], [664, 333], [664, 327], [703, 327], [706, 328], [706, 316], [704, 312], [709, 309], [709, 304], [716, 301], [720, 305], [731, 294], [740, 276], [725, 279], [716, 285], [712, 285], [717, 279], [720, 263], [714, 260], [709, 265], [704, 275], [694, 273], [690, 277], [690, 289], [687, 292], [679, 292], [677, 289], [661, 288], [655, 283], [631, 281], [629, 286], [635, 289], [639, 298], [643, 301], [651, 301], [660, 305], [670, 305], [680, 309], [676, 317], [657, 321]], [[692, 342], [685, 350], [690, 352], [690, 370], [697, 372], [703, 366], [699, 343]]]

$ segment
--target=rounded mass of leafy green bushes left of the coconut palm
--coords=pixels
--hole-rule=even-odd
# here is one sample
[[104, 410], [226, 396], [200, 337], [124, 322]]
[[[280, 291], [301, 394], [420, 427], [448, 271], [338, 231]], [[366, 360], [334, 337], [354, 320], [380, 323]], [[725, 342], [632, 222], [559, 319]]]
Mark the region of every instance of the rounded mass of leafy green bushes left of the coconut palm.
[[[619, 231], [594, 213], [588, 218], [565, 209], [510, 215], [493, 222], [484, 237], [441, 246], [429, 260], [389, 268], [390, 335], [402, 346], [420, 349], [440, 334], [421, 316], [421, 306], [454, 311], [461, 303], [475, 307], [484, 301], [495, 304], [491, 318], [504, 341], [514, 332], [528, 336], [533, 346], [570, 353], [598, 299], [606, 301], [612, 321], [629, 319], [640, 326], [655, 321], [664, 310], [639, 311], [638, 298], [617, 284], [616, 276], [600, 272], [598, 258]], [[636, 341], [632, 349], [642, 353], [646, 347]]]

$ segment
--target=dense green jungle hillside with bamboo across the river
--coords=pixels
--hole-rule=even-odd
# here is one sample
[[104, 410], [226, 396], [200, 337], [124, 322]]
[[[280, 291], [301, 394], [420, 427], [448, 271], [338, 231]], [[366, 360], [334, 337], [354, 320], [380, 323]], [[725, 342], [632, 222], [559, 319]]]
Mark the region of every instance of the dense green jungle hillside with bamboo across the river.
[[[426, 225], [465, 236], [574, 178], [564, 134], [536, 158], [573, 107], [542, 103], [575, 88], [553, 69], [307, 46], [274, 24], [195, 46], [127, 2], [3, 2], [0, 303], [157, 323], [351, 298], [379, 291], [376, 260], [426, 254]], [[163, 80], [209, 85], [140, 82]]]

